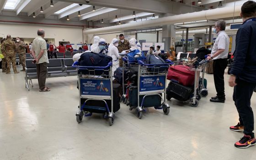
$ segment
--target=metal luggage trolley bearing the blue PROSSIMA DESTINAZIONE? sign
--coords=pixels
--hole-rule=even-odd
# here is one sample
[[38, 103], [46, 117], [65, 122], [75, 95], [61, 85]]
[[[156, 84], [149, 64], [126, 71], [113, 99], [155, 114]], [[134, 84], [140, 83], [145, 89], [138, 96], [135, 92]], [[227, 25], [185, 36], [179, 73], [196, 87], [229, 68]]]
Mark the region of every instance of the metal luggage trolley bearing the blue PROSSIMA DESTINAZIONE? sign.
[[[136, 115], [139, 119], [142, 118], [142, 111], [145, 106], [145, 99], [148, 96], [159, 96], [160, 97], [160, 106], [151, 106], [155, 109], [162, 109], [163, 112], [168, 115], [170, 112], [170, 107], [165, 103], [165, 84], [166, 84], [166, 74], [168, 68], [172, 63], [170, 60], [166, 60], [165, 64], [144, 64], [143, 61], [139, 60], [139, 71], [138, 71], [138, 105], [131, 106], [129, 110], [132, 111], [136, 108]], [[164, 98], [162, 97], [164, 94]], [[141, 100], [141, 96], [143, 96]], [[161, 103], [161, 101], [163, 101]], [[150, 104], [149, 104], [150, 105]]]

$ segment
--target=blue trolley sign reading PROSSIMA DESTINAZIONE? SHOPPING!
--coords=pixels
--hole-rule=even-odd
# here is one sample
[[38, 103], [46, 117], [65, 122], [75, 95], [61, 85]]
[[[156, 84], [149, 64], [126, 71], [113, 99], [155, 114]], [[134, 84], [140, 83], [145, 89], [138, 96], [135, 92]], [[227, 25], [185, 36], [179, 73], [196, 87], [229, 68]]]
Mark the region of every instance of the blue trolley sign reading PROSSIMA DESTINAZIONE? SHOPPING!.
[[159, 91], [165, 89], [165, 75], [140, 77], [140, 92]]

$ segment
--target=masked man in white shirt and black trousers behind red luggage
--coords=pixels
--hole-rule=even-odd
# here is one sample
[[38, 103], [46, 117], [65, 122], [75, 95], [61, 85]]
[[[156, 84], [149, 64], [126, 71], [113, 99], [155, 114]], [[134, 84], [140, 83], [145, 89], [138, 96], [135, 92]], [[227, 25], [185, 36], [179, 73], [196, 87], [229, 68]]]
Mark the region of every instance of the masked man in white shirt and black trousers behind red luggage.
[[226, 22], [217, 21], [213, 32], [217, 33], [217, 38], [213, 44], [213, 49], [207, 59], [213, 59], [213, 77], [217, 96], [210, 99], [212, 102], [225, 102], [224, 92], [224, 71], [228, 65], [229, 36], [225, 32]]

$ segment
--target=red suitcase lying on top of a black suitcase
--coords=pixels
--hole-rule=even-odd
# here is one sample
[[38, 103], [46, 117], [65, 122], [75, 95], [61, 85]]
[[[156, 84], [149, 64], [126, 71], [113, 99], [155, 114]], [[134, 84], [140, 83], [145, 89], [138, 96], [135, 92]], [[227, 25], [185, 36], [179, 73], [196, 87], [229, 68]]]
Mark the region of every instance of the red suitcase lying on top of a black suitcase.
[[167, 80], [173, 80], [184, 86], [194, 85], [195, 71], [189, 70], [188, 66], [175, 65], [168, 69]]

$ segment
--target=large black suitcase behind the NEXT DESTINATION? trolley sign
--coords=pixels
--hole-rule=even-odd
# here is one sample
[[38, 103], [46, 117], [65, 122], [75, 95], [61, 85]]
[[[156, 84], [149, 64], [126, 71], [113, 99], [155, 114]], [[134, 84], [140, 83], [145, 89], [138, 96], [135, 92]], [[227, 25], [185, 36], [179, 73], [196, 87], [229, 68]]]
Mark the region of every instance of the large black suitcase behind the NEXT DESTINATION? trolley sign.
[[[120, 85], [119, 84], [113, 84], [113, 112], [117, 112], [120, 109], [120, 96], [118, 93]], [[86, 98], [81, 99], [81, 106], [86, 101]], [[109, 111], [111, 111], [111, 100], [105, 100], [107, 102], [107, 106], [109, 108]], [[92, 107], [91, 107], [92, 106]], [[94, 109], [93, 107], [97, 107], [97, 109]], [[106, 112], [106, 105], [104, 101], [100, 100], [89, 100], [85, 104], [84, 111], [92, 112], [92, 113], [105, 113]]]

